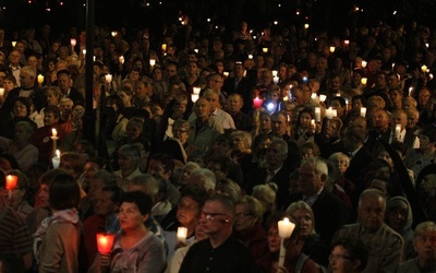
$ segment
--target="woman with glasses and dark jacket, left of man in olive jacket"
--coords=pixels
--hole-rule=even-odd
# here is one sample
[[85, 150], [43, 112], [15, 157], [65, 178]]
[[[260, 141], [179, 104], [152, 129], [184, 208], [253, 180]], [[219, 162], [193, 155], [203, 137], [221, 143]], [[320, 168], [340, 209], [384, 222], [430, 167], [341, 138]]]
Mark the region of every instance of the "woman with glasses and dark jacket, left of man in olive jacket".
[[172, 123], [173, 138], [167, 138], [164, 141], [162, 152], [182, 163], [187, 162], [185, 149], [187, 147], [187, 136], [190, 136], [191, 127], [184, 119], [178, 119]]

